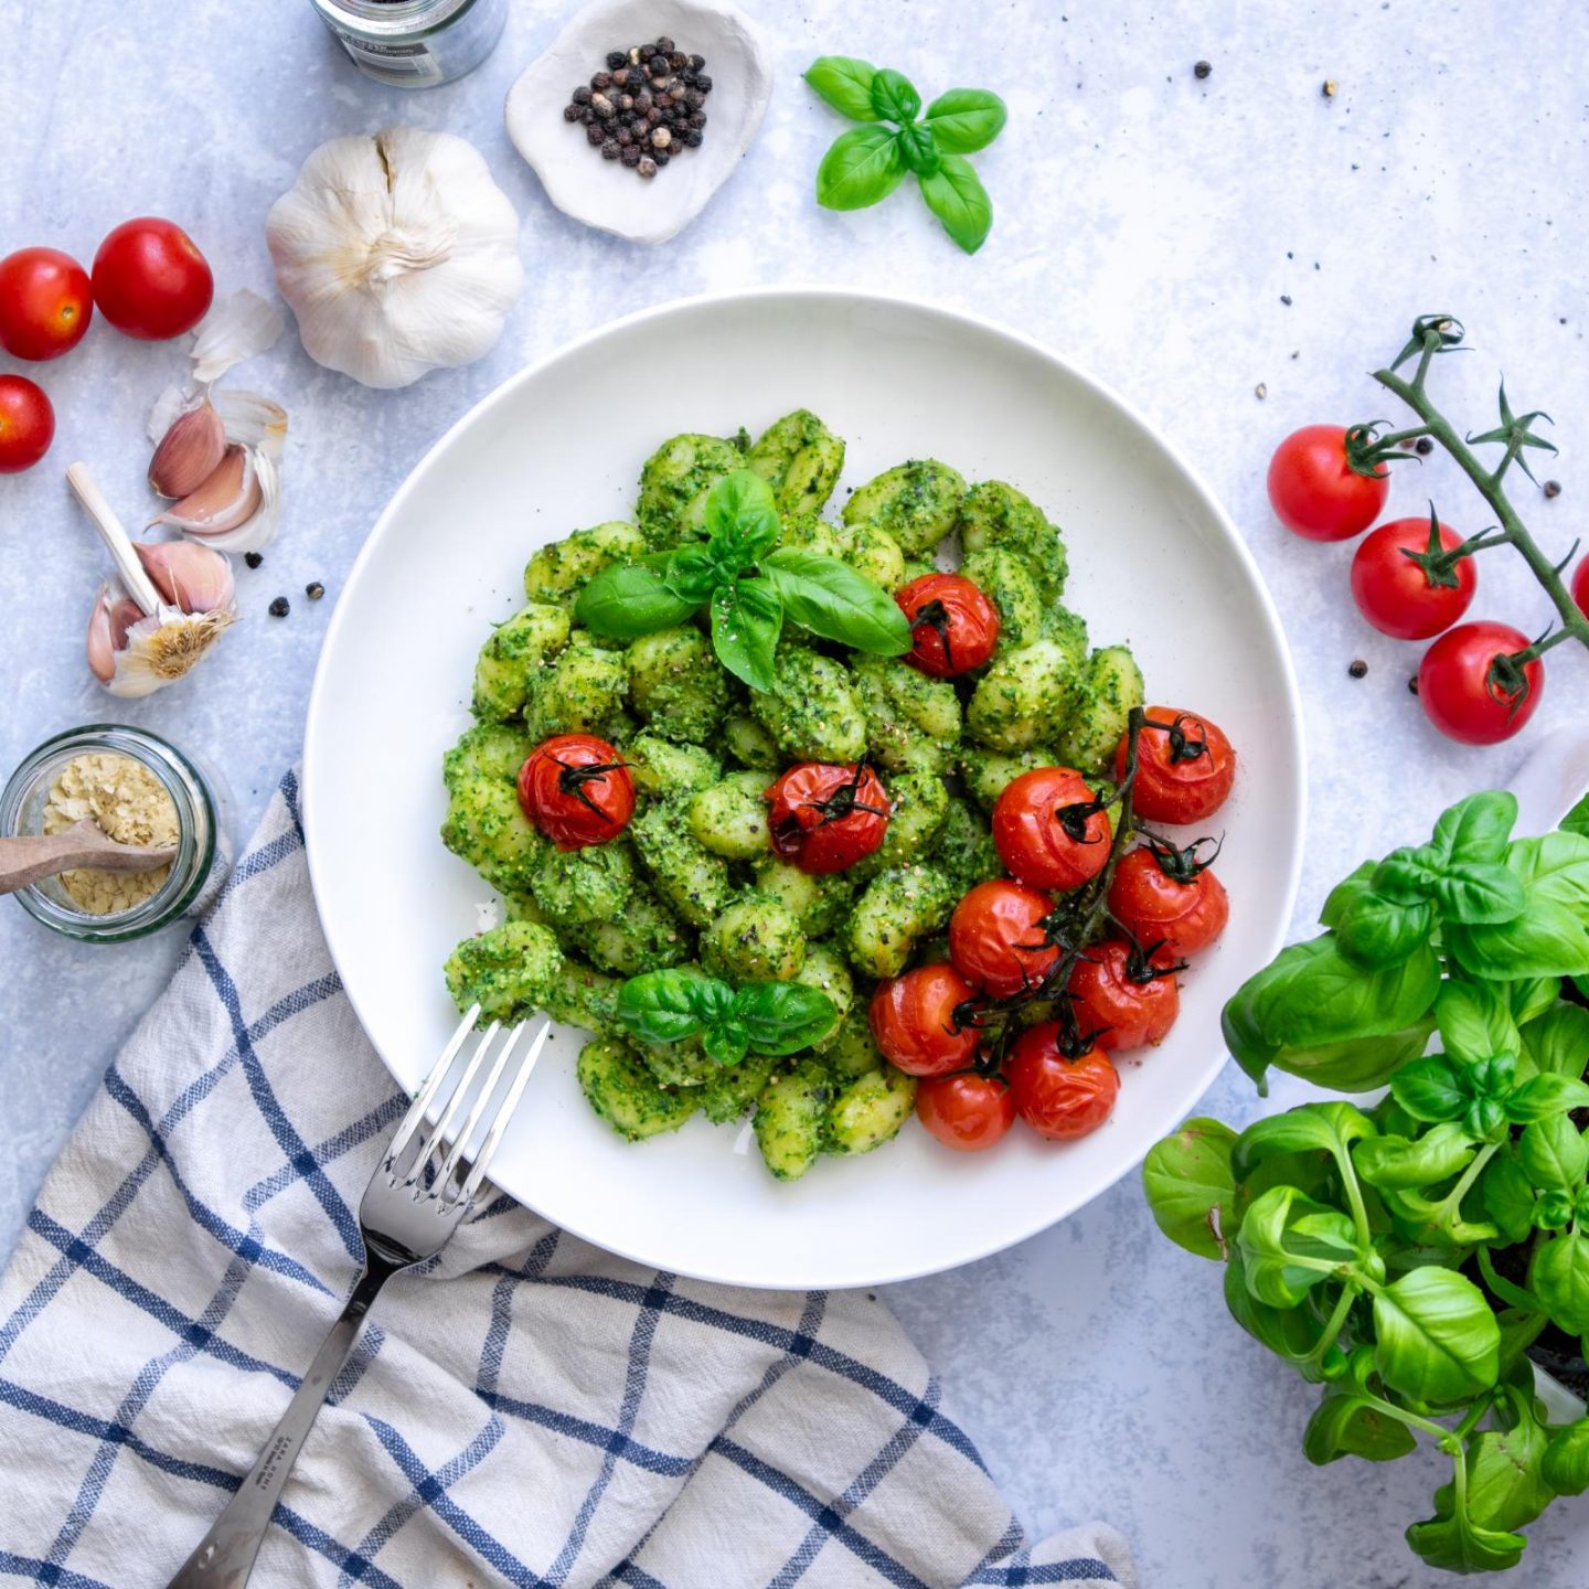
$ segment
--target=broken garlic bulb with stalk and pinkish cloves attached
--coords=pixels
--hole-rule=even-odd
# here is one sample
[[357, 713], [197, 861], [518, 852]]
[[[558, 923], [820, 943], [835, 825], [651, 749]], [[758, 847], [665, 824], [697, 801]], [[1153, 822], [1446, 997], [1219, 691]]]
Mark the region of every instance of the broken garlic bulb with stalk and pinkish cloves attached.
[[89, 667], [111, 694], [151, 694], [188, 674], [235, 620], [232, 566], [219, 551], [186, 540], [129, 540], [83, 464], [67, 470], [67, 481], [119, 575], [94, 599]]

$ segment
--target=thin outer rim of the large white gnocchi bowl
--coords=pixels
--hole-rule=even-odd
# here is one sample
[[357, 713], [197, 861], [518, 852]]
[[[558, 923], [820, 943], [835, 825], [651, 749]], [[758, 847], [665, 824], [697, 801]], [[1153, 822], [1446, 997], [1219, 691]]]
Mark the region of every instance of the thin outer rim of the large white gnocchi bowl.
[[[315, 745], [316, 740], [321, 737], [319, 717], [323, 712], [327, 710], [326, 701], [332, 690], [332, 685], [329, 682], [331, 671], [326, 666], [326, 659], [335, 655], [335, 644], [338, 640], [342, 624], [346, 620], [346, 613], [354, 605], [351, 597], [354, 594], [354, 590], [358, 588], [359, 578], [365, 566], [370, 564], [378, 555], [380, 545], [386, 535], [388, 528], [399, 516], [410, 494], [413, 494], [418, 489], [421, 480], [434, 467], [437, 467], [439, 461], [451, 448], [454, 439], [464, 431], [467, 431], [481, 415], [488, 413], [497, 404], [507, 402], [521, 386], [540, 377], [550, 365], [558, 364], [563, 359], [577, 354], [580, 350], [590, 346], [594, 342], [605, 340], [613, 332], [642, 327], [653, 321], [664, 319], [682, 310], [707, 308], [713, 303], [742, 302], [747, 299], [748, 300], [831, 299], [863, 307], [874, 303], [874, 305], [887, 305], [888, 308], [895, 310], [898, 308], [915, 310], [928, 316], [938, 316], [942, 319], [957, 321], [963, 326], [971, 326], [976, 331], [980, 331], [998, 342], [1011, 343], [1028, 354], [1036, 354], [1038, 358], [1046, 359], [1047, 362], [1057, 365], [1071, 380], [1084, 386], [1100, 404], [1103, 404], [1108, 408], [1112, 408], [1117, 415], [1123, 416], [1127, 421], [1139, 427], [1144, 434], [1152, 437], [1155, 445], [1162, 450], [1163, 456], [1179, 470], [1187, 486], [1197, 494], [1201, 507], [1209, 513], [1212, 521], [1219, 524], [1219, 529], [1225, 537], [1225, 540], [1228, 542], [1230, 550], [1235, 553], [1236, 561], [1241, 564], [1243, 570], [1247, 574], [1251, 580], [1252, 591], [1257, 597], [1257, 613], [1262, 617], [1265, 626], [1265, 639], [1271, 644], [1274, 656], [1279, 659], [1281, 664], [1281, 685], [1284, 690], [1286, 709], [1290, 723], [1295, 728], [1297, 755], [1292, 767], [1292, 787], [1287, 790], [1270, 791], [1271, 799], [1286, 801], [1289, 809], [1293, 812], [1292, 833], [1295, 837], [1295, 842], [1290, 845], [1290, 853], [1286, 860], [1286, 877], [1281, 895], [1282, 909], [1276, 912], [1276, 928], [1273, 933], [1273, 939], [1265, 947], [1262, 960], [1257, 960], [1255, 965], [1263, 965], [1268, 960], [1271, 960], [1286, 944], [1290, 917], [1297, 904], [1297, 890], [1301, 883], [1303, 836], [1306, 833], [1306, 820], [1308, 820], [1308, 750], [1303, 736], [1301, 693], [1297, 685], [1297, 669], [1292, 661], [1290, 647], [1286, 642], [1286, 632], [1281, 626], [1279, 613], [1274, 609], [1274, 601], [1270, 596], [1268, 586], [1263, 582], [1263, 575], [1258, 569], [1257, 559], [1252, 556], [1251, 548], [1247, 547], [1241, 532], [1236, 529], [1235, 521], [1230, 518], [1230, 515], [1225, 512], [1219, 499], [1203, 481], [1203, 477], [1187, 462], [1181, 450], [1174, 447], [1170, 440], [1166, 440], [1163, 434], [1158, 431], [1158, 427], [1154, 426], [1141, 413], [1141, 410], [1138, 410], [1135, 405], [1120, 397], [1119, 392], [1115, 392], [1112, 388], [1096, 380], [1088, 372], [1071, 364], [1068, 359], [1055, 353], [1052, 348], [1049, 348], [1038, 338], [1028, 337], [1025, 332], [1014, 331], [1012, 327], [999, 324], [998, 321], [990, 319], [984, 315], [976, 315], [961, 308], [950, 308], [942, 303], [936, 303], [930, 299], [920, 299], [895, 292], [866, 292], [853, 288], [799, 284], [799, 283], [750, 288], [750, 289], [733, 289], [723, 292], [702, 292], [691, 297], [671, 299], [666, 303], [658, 303], [653, 305], [651, 308], [639, 310], [632, 315], [624, 315], [618, 319], [605, 321], [604, 324], [596, 326], [594, 329], [585, 332], [580, 337], [572, 338], [570, 342], [559, 343], [555, 350], [547, 353], [543, 358], [537, 359], [534, 364], [526, 365], [516, 375], [510, 375], [501, 386], [497, 386], [494, 391], [481, 397], [480, 402], [477, 402], [467, 413], [462, 415], [462, 418], [459, 418], [437, 439], [437, 442], [429, 448], [424, 458], [421, 458], [419, 462], [415, 466], [407, 480], [404, 480], [404, 483], [397, 488], [392, 499], [383, 508], [380, 518], [377, 518], [375, 526], [369, 534], [369, 539], [364, 542], [362, 550], [359, 551], [358, 558], [353, 563], [353, 567], [348, 572], [342, 597], [338, 599], [335, 612], [332, 613], [331, 623], [327, 624], [326, 629], [326, 639], [321, 645], [321, 661], [315, 669], [315, 683], [310, 691], [308, 713], [305, 717], [305, 729], [303, 729], [305, 747], [308, 748]], [[305, 796], [302, 802], [303, 844], [308, 858], [310, 883], [315, 888], [318, 901], [319, 890], [323, 887], [324, 864], [316, 863], [318, 844], [316, 844], [315, 817], [319, 802], [313, 793], [313, 777], [315, 777], [313, 767], [308, 761], [308, 756], [305, 755], [305, 767], [303, 767]], [[342, 965], [337, 955], [337, 945], [331, 942], [329, 934], [327, 934], [327, 947], [331, 950], [332, 963], [337, 966], [340, 976]], [[348, 995], [350, 1004], [353, 1006], [354, 1015], [359, 1019], [359, 1023], [365, 1030], [365, 1033], [369, 1033], [372, 1030], [372, 1023], [365, 1019], [364, 1011], [359, 1007], [358, 992], [345, 979], [343, 979], [343, 988]], [[388, 1071], [391, 1071], [394, 1081], [397, 1081], [399, 1085], [407, 1087], [399, 1071], [391, 1065], [386, 1055], [380, 1052], [378, 1047], [377, 1054], [380, 1054], [381, 1063], [386, 1065]], [[1192, 1104], [1195, 1104], [1197, 1100], [1200, 1100], [1214, 1084], [1214, 1077], [1224, 1068], [1225, 1060], [1227, 1054], [1224, 1046], [1222, 1044], [1212, 1046], [1208, 1063], [1203, 1066], [1200, 1073], [1197, 1073], [1195, 1077], [1197, 1090], [1190, 1100]], [[1133, 1171], [1141, 1163], [1141, 1158], [1142, 1158], [1141, 1154], [1127, 1157], [1122, 1160], [1119, 1166], [1114, 1166], [1111, 1171], [1095, 1174], [1087, 1182], [1068, 1187], [1063, 1198], [1054, 1203], [1047, 1201], [1034, 1203], [1033, 1204], [1034, 1211], [1028, 1211], [1025, 1216], [1022, 1216], [1022, 1211], [1019, 1209], [1004, 1208], [1001, 1211], [999, 1220], [987, 1222], [990, 1239], [987, 1246], [979, 1252], [961, 1254], [952, 1257], [947, 1262], [926, 1260], [926, 1262], [912, 1262], [899, 1268], [883, 1266], [883, 1270], [879, 1274], [869, 1278], [864, 1284], [890, 1286], [898, 1281], [917, 1279], [923, 1274], [936, 1274], [947, 1268], [958, 1268], [963, 1263], [972, 1263], [977, 1262], [979, 1258], [990, 1257], [995, 1252], [1003, 1252], [1006, 1247], [1017, 1246], [1028, 1236], [1034, 1236], [1039, 1231], [1047, 1230], [1050, 1225], [1058, 1224], [1061, 1219], [1068, 1219], [1077, 1209], [1085, 1208], [1093, 1198], [1100, 1197], [1123, 1176], [1130, 1174], [1130, 1171]], [[510, 1176], [510, 1179], [513, 1177]], [[528, 1200], [521, 1201], [526, 1201], [526, 1206], [534, 1209], [534, 1203]], [[620, 1257], [632, 1258], [639, 1263], [647, 1263], [647, 1265], [653, 1263], [653, 1258], [645, 1252], [626, 1247], [621, 1243], [615, 1243], [610, 1233], [604, 1231], [597, 1235], [588, 1228], [583, 1228], [582, 1224], [577, 1224], [567, 1217], [563, 1219], [563, 1227], [569, 1230], [572, 1235], [580, 1236], [582, 1239], [590, 1241], [594, 1246], [604, 1247], [609, 1252], [617, 1252]], [[725, 1284], [739, 1282], [736, 1281], [734, 1276], [725, 1273], [691, 1270], [688, 1266], [680, 1266], [677, 1263], [671, 1263], [669, 1268], [672, 1268], [674, 1273], [688, 1274], [694, 1279], [718, 1281]], [[814, 1279], [810, 1276], [801, 1276], [798, 1279], [790, 1279], [783, 1282], [758, 1281], [758, 1284], [763, 1286], [763, 1289], [771, 1289], [771, 1290], [823, 1289], [825, 1286], [822, 1279]], [[837, 1284], [853, 1287], [861, 1282], [855, 1281], [853, 1278], [847, 1278]]]

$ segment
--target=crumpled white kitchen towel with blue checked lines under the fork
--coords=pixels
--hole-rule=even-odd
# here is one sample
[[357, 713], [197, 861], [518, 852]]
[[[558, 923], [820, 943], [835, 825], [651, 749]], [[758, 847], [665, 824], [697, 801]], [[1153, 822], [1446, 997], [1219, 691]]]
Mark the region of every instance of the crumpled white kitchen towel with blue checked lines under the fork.
[[[0, 1579], [164, 1584], [351, 1286], [405, 1100], [331, 968], [296, 794], [289, 775], [0, 1282]], [[381, 1297], [254, 1575], [1131, 1581], [1104, 1527], [1025, 1541], [880, 1303], [656, 1273], [505, 1197]]]

